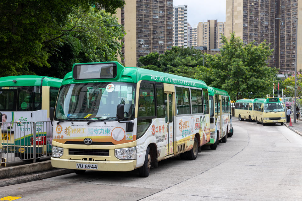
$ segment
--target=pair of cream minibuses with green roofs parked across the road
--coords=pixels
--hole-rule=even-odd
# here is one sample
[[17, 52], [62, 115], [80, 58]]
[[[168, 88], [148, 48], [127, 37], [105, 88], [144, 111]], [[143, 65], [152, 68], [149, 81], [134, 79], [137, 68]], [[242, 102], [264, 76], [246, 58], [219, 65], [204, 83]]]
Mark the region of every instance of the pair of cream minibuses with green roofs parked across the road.
[[283, 125], [286, 119], [285, 106], [279, 98], [241, 99], [235, 103], [235, 117], [240, 121], [256, 121], [263, 126], [268, 123]]

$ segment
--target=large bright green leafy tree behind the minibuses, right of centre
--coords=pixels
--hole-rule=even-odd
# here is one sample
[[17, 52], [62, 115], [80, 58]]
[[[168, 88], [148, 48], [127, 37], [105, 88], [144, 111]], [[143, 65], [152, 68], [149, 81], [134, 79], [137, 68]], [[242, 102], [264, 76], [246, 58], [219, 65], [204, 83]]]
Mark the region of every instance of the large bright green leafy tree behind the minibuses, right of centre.
[[259, 46], [243, 41], [231, 34], [230, 41], [222, 36], [221, 54], [207, 55], [205, 67], [198, 67], [196, 79], [209, 86], [226, 90], [232, 100], [261, 98], [271, 93], [277, 69], [267, 67], [271, 55], [270, 44]]

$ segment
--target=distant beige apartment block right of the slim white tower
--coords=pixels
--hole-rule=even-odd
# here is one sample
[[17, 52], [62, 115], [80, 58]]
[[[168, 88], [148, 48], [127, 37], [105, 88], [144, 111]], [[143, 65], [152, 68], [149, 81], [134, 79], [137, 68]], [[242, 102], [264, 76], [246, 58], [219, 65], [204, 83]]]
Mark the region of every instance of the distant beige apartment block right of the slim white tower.
[[197, 25], [197, 46], [207, 47], [208, 50], [221, 48], [221, 34], [224, 34], [224, 22], [208, 20]]

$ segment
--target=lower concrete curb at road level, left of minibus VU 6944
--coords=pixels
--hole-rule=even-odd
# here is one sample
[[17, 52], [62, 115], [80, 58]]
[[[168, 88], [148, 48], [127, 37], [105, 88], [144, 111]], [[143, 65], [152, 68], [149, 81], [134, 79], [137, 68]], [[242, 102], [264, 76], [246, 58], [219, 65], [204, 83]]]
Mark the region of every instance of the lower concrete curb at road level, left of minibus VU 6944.
[[46, 179], [49, 177], [55, 177], [55, 176], [59, 176], [59, 175], [69, 174], [73, 171], [74, 170], [70, 170], [70, 169], [54, 169], [54, 170], [50, 170], [50, 171], [38, 172], [36, 174], [29, 174], [29, 175], [24, 175], [24, 176], [1, 179], [0, 187], [19, 184], [19, 183], [25, 183], [25, 182], [32, 182], [32, 181], [36, 181], [36, 180]]

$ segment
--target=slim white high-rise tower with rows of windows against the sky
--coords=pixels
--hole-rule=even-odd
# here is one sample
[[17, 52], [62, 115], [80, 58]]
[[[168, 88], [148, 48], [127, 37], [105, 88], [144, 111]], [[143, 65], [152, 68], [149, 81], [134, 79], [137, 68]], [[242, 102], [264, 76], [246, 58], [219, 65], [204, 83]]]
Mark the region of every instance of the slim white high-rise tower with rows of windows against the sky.
[[188, 46], [187, 5], [173, 7], [173, 46]]

